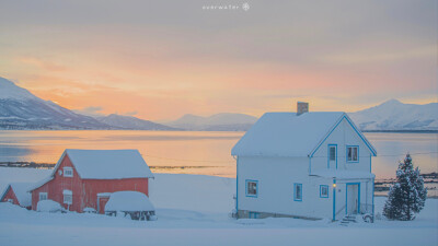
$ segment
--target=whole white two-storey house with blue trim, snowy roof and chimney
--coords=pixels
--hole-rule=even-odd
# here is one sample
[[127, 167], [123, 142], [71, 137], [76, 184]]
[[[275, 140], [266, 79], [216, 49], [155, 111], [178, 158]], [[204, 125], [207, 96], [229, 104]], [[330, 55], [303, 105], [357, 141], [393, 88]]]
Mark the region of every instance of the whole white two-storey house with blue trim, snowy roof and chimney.
[[376, 149], [345, 113], [266, 113], [234, 145], [238, 218], [373, 215]]

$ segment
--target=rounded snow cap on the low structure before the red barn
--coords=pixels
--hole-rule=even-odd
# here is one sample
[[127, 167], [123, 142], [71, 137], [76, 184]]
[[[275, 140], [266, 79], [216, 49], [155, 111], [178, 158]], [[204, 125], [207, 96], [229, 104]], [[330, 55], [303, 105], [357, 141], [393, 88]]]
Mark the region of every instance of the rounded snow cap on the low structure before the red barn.
[[154, 211], [148, 196], [138, 191], [117, 191], [111, 195], [105, 211]]

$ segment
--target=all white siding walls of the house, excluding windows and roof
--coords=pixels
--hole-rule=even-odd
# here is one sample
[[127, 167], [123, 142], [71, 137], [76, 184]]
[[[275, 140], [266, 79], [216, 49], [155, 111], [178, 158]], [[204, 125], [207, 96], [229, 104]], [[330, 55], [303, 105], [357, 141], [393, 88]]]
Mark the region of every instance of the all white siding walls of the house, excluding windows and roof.
[[[315, 143], [316, 145], [318, 143]], [[333, 218], [333, 192], [336, 192], [336, 220], [345, 215], [346, 185], [360, 183], [360, 203], [372, 204], [371, 179], [336, 180], [313, 176], [314, 171], [327, 169], [328, 144], [337, 145], [337, 169], [371, 172], [371, 151], [344, 118], [309, 157], [238, 157], [238, 210], [267, 212], [308, 218]], [[347, 145], [358, 147], [357, 163], [347, 162]], [[336, 164], [330, 165], [336, 169]], [[245, 196], [245, 180], [257, 180], [257, 197]], [[293, 200], [293, 184], [302, 184], [302, 201]], [[328, 186], [328, 198], [320, 197], [320, 185]]]

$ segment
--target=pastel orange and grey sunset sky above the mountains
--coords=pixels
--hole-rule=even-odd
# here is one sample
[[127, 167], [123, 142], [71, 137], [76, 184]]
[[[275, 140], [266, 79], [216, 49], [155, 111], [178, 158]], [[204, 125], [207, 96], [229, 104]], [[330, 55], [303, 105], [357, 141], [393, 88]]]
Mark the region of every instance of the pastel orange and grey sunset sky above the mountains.
[[88, 113], [175, 119], [437, 102], [437, 1], [1, 1], [0, 77]]

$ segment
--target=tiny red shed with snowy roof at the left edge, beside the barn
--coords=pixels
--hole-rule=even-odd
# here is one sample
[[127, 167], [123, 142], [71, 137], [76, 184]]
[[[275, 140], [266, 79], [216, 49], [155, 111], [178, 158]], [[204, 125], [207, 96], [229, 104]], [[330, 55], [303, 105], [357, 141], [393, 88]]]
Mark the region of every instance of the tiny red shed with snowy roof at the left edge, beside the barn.
[[0, 201], [8, 201], [20, 207], [31, 209], [32, 196], [27, 192], [32, 183], [12, 183], [7, 186], [0, 197]]

